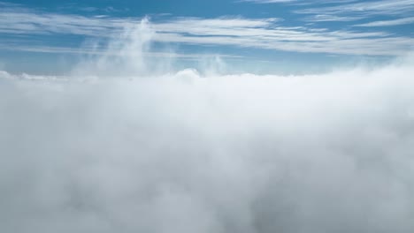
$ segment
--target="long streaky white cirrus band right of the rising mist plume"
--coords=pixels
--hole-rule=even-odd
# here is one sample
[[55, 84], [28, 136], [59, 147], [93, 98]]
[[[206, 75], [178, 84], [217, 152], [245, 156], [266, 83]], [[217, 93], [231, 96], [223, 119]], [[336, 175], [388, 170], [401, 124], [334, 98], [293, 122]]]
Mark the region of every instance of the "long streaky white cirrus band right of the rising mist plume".
[[[263, 21], [257, 27], [209, 26], [205, 19], [178, 19], [157, 23], [161, 32], [157, 41], [193, 44], [234, 45], [258, 49], [276, 49], [296, 52], [322, 52], [336, 54], [398, 55], [414, 43], [414, 39], [392, 36], [383, 32], [312, 30], [303, 27], [273, 26]], [[387, 49], [384, 49], [387, 48]]]

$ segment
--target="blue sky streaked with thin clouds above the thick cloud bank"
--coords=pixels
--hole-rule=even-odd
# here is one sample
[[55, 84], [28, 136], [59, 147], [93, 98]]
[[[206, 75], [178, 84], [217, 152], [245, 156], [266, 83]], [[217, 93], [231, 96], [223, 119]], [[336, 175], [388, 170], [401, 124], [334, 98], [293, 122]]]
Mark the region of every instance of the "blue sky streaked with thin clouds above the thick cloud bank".
[[246, 71], [320, 71], [414, 49], [414, 0], [0, 1], [0, 70], [69, 71], [148, 17], [148, 57]]

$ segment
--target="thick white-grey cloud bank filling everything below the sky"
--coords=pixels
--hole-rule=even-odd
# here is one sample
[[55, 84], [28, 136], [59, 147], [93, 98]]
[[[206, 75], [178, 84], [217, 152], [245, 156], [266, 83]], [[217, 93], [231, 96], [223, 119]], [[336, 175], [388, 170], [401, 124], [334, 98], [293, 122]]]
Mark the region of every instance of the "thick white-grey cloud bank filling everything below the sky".
[[412, 67], [0, 72], [0, 229], [413, 232]]

